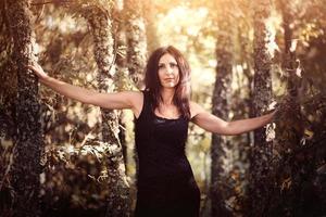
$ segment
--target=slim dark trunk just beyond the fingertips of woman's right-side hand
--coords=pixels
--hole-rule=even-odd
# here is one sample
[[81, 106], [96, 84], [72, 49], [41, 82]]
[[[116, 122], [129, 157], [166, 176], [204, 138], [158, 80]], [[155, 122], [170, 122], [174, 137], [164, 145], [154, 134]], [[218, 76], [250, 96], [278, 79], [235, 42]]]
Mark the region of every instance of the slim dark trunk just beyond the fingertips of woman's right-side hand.
[[[277, 139], [278, 139], [278, 150], [284, 150], [281, 152], [283, 162], [280, 162], [278, 168], [278, 186], [279, 188], [284, 183], [286, 178], [289, 178], [292, 181], [292, 184], [289, 189], [285, 189], [286, 193], [281, 195], [277, 195], [276, 199], [278, 202], [278, 206], [281, 207], [281, 212], [284, 214], [290, 214], [292, 216], [298, 215], [302, 212], [302, 186], [306, 183], [308, 173], [311, 169], [306, 169], [309, 165], [312, 165], [312, 161], [297, 161], [296, 163], [290, 164], [290, 170], [284, 169], [284, 164], [286, 164], [286, 157], [289, 153], [296, 152], [302, 148], [300, 140], [303, 138], [303, 123], [301, 116], [301, 110], [299, 104], [299, 94], [298, 94], [298, 85], [300, 85], [301, 79], [296, 75], [296, 69], [298, 67], [296, 62], [296, 49], [291, 49], [291, 43], [293, 40], [293, 28], [294, 28], [294, 9], [296, 5], [291, 1], [279, 1], [279, 9], [283, 15], [283, 28], [284, 28], [284, 51], [283, 51], [283, 69], [288, 76], [287, 80], [287, 97], [284, 101], [286, 101], [286, 105], [281, 110], [283, 118], [279, 118], [281, 123], [278, 124], [277, 129]], [[283, 102], [284, 103], [284, 102]], [[284, 133], [286, 132], [286, 133]], [[299, 168], [298, 168], [299, 167]], [[286, 202], [286, 203], [285, 203]]]

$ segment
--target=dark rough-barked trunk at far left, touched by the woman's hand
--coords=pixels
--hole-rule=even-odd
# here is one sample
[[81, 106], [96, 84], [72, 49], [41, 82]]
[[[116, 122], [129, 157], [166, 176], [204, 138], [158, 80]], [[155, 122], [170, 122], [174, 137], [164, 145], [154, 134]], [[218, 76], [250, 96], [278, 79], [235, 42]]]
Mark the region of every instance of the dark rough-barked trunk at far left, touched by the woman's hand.
[[7, 17], [13, 37], [17, 67], [16, 143], [11, 169], [13, 216], [36, 217], [39, 209], [40, 157], [43, 151], [38, 80], [25, 65], [35, 61], [29, 1], [7, 0]]

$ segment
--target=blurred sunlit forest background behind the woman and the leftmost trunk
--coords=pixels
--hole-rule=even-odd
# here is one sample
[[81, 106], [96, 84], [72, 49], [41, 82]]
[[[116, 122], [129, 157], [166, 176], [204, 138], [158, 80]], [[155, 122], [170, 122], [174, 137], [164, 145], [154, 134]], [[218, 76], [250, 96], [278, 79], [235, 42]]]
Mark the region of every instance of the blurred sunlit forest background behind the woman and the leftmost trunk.
[[[12, 168], [24, 164], [15, 163], [24, 119], [17, 115], [14, 35], [21, 35], [14, 29], [25, 27], [11, 18], [15, 3], [0, 4], [0, 214], [12, 216]], [[186, 151], [201, 190], [201, 216], [326, 215], [325, 0], [33, 0], [21, 7], [30, 12], [26, 33], [35, 60], [66, 82], [139, 90], [149, 54], [172, 44], [191, 66], [191, 99], [213, 114], [241, 119], [278, 102], [274, 124], [263, 131], [220, 137], [190, 124]], [[118, 193], [112, 173], [125, 181], [127, 213], [133, 210], [133, 113], [113, 112], [114, 142], [122, 149], [110, 148], [103, 111], [35, 87], [42, 140], [39, 215], [109, 216], [109, 195]], [[121, 170], [111, 171], [110, 161]]]

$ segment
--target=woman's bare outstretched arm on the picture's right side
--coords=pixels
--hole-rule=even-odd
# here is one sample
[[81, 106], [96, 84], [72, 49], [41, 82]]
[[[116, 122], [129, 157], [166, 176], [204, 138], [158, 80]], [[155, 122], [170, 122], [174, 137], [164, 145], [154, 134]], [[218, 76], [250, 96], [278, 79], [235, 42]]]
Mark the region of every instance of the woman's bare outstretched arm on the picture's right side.
[[197, 103], [190, 103], [192, 122], [199, 127], [220, 135], [240, 135], [260, 128], [272, 122], [275, 112], [267, 115], [239, 119], [234, 122], [225, 122], [215, 115], [204, 111]]

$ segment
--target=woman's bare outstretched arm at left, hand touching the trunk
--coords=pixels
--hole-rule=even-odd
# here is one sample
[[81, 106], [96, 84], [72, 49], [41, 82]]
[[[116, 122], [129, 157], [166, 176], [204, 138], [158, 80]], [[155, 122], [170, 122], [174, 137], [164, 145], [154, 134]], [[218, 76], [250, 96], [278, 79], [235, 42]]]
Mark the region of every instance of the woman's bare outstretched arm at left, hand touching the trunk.
[[116, 93], [101, 93], [93, 90], [76, 87], [67, 82], [58, 80], [48, 76], [40, 65], [28, 65], [28, 68], [35, 72], [39, 81], [54, 91], [77, 100], [83, 103], [93, 104], [105, 108], [131, 108], [137, 114], [140, 102], [141, 93], [136, 91], [124, 91]]

